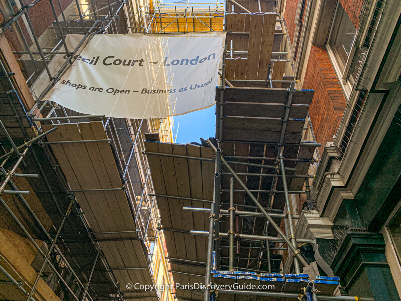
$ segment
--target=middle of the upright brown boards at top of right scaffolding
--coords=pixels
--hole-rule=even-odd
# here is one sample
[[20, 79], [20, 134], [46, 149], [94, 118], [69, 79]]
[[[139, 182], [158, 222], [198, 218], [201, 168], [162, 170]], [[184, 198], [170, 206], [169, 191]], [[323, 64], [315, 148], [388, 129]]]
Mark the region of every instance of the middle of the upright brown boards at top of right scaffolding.
[[246, 79], [257, 79], [262, 42], [263, 15], [251, 15]]

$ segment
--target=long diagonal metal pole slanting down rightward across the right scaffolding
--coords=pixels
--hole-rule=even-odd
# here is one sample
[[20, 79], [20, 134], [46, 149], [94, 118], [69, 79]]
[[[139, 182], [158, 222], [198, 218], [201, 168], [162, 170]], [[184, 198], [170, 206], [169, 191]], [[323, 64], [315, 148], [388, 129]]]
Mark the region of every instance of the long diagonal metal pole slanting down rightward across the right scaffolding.
[[[210, 140], [207, 140], [209, 145], [212, 147], [212, 149], [216, 152], [216, 147], [213, 145]], [[255, 203], [255, 205], [259, 208], [259, 210], [263, 213], [263, 215], [267, 218], [267, 220], [270, 222], [270, 224], [273, 226], [273, 228], [277, 231], [277, 233], [281, 236], [281, 238], [284, 240], [284, 242], [291, 248], [292, 252], [296, 253], [297, 249], [292, 245], [291, 241], [287, 238], [287, 236], [281, 231], [280, 227], [276, 224], [276, 222], [273, 220], [272, 217], [266, 212], [265, 208], [258, 202], [258, 200], [255, 198], [255, 196], [249, 191], [248, 187], [240, 177], [236, 174], [236, 172], [231, 168], [231, 166], [227, 163], [227, 161], [224, 158], [221, 158], [222, 163], [227, 167], [227, 169], [232, 173], [234, 178], [238, 181], [238, 183], [242, 186], [242, 188], [245, 190], [245, 192], [249, 195], [251, 200]], [[301, 253], [296, 253], [294, 254], [299, 261], [304, 265], [308, 266], [308, 263], [306, 260], [302, 257]], [[207, 301], [207, 300], [205, 300]]]

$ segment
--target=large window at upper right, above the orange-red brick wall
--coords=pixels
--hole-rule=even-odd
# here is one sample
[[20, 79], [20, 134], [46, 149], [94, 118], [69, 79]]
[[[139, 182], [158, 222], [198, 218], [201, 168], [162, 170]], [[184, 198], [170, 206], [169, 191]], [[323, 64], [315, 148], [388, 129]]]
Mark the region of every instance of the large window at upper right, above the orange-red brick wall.
[[349, 19], [341, 4], [338, 3], [333, 18], [328, 44], [333, 51], [341, 73], [344, 73], [348, 57], [352, 50], [355, 35], [355, 26], [351, 19]]

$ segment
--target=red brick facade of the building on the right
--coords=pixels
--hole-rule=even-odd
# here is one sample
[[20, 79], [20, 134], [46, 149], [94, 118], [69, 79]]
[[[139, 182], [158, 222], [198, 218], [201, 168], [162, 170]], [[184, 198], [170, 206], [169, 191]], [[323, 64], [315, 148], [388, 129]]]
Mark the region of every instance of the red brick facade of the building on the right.
[[[326, 47], [329, 24], [337, 5], [343, 7], [352, 24], [358, 29], [364, 0], [332, 0], [322, 1], [321, 3], [329, 3], [331, 5], [331, 15], [324, 15], [322, 17], [323, 21], [321, 21], [327, 27], [325, 31], [326, 38], [316, 43], [312, 42], [310, 52], [306, 52], [305, 56], [300, 58], [304, 61], [303, 68], [306, 68], [306, 71], [304, 70], [304, 77], [302, 78], [302, 88], [315, 90], [314, 98], [309, 108], [309, 115], [316, 140], [322, 144], [319, 149], [320, 154], [322, 154], [327, 142], [334, 141], [334, 136], [337, 133], [347, 105], [346, 95], [338, 80], [338, 74], [335, 72], [331, 61], [332, 58], [330, 58]], [[285, 2], [284, 19], [288, 38], [291, 42], [290, 58], [294, 60], [294, 66], [297, 65], [297, 60], [299, 59], [300, 38], [302, 32], [305, 30], [303, 27], [306, 27], [306, 24], [304, 25], [307, 22], [305, 21], [305, 15], [307, 14], [306, 6], [306, 0], [287, 0]], [[322, 6], [324, 7], [324, 5]], [[327, 9], [327, 7], [324, 9]], [[295, 20], [296, 18], [299, 20]], [[324, 30], [321, 28], [320, 26], [319, 30]], [[344, 32], [343, 34], [345, 35], [346, 33]], [[306, 42], [303, 45], [304, 51], [308, 47]], [[301, 73], [301, 71], [299, 72]], [[301, 77], [300, 74], [298, 76], [299, 78]]]

